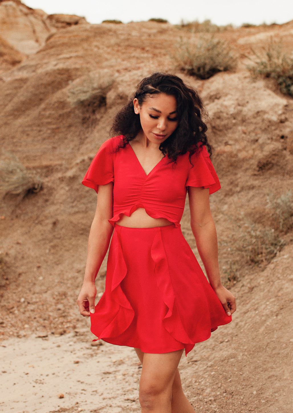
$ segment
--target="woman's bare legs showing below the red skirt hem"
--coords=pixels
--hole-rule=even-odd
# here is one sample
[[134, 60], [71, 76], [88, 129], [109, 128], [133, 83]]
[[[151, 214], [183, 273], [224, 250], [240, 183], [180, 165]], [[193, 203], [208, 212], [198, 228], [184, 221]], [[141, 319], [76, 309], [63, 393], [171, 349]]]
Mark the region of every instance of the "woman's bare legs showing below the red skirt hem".
[[164, 354], [145, 354], [135, 349], [143, 364], [140, 382], [142, 413], [194, 413], [186, 399], [180, 380], [178, 364], [182, 351]]

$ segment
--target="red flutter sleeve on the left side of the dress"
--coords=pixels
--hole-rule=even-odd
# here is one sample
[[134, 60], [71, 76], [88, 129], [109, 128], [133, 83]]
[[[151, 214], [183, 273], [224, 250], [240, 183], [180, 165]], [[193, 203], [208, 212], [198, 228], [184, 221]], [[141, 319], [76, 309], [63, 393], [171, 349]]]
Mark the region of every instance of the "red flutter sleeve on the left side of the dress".
[[113, 144], [111, 139], [106, 140], [91, 161], [82, 184], [98, 192], [98, 185], [114, 182]]

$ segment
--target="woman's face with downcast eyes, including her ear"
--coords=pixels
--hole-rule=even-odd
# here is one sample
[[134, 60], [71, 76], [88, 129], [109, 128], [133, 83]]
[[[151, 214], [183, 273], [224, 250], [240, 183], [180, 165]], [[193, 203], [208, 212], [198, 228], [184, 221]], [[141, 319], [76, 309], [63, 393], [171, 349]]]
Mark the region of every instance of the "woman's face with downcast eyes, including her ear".
[[176, 98], [166, 93], [151, 95], [141, 106], [134, 99], [134, 112], [139, 114], [144, 138], [161, 144], [178, 126]]

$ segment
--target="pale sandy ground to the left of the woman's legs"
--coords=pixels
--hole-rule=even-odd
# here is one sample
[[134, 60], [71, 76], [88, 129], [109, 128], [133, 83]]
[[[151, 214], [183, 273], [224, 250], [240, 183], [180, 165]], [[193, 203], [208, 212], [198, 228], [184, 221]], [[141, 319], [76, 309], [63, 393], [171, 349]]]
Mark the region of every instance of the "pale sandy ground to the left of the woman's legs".
[[[9, 339], [2, 342], [0, 354], [3, 412], [118, 413], [137, 403], [139, 366], [128, 347], [93, 347], [90, 340], [67, 334]], [[109, 395], [114, 382], [119, 387]]]

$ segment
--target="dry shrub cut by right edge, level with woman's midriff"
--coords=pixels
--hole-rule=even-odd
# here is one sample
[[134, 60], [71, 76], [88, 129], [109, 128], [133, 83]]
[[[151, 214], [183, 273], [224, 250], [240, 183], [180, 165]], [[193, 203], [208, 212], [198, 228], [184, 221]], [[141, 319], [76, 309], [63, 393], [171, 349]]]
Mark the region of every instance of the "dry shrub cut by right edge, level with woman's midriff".
[[288, 233], [293, 228], [293, 193], [288, 190], [277, 199], [268, 199], [273, 218], [279, 229]]

